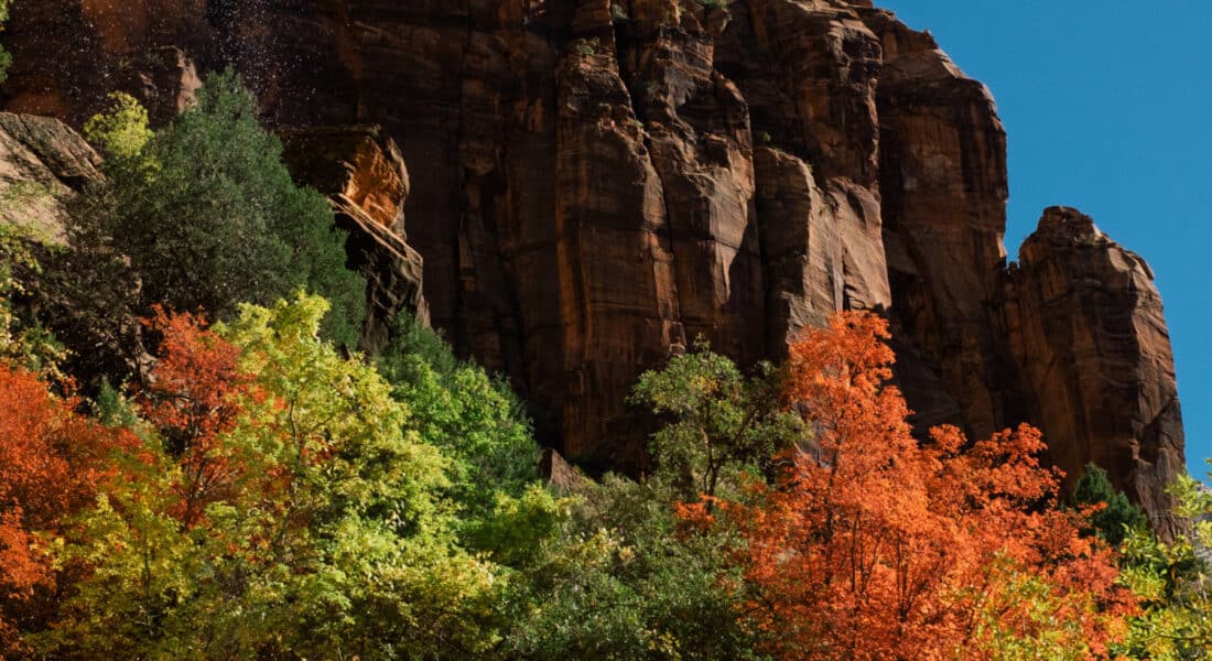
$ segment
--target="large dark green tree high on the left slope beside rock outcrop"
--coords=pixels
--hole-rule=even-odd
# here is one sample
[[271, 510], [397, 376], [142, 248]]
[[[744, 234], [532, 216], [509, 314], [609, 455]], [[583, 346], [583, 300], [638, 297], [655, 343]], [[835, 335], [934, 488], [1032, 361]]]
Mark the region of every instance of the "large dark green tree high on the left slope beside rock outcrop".
[[64, 278], [81, 279], [96, 262], [118, 272], [114, 261], [128, 258], [130, 277], [88, 283], [90, 297], [137, 280], [139, 315], [166, 303], [219, 319], [240, 302], [270, 303], [307, 286], [332, 301], [324, 335], [353, 346], [365, 281], [345, 268], [344, 235], [326, 200], [295, 186], [281, 142], [257, 115], [256, 97], [230, 72], [210, 75], [198, 104], [154, 135], [145, 112], [115, 95], [112, 112], [87, 125], [112, 158], [107, 182], [76, 205], [79, 252]]

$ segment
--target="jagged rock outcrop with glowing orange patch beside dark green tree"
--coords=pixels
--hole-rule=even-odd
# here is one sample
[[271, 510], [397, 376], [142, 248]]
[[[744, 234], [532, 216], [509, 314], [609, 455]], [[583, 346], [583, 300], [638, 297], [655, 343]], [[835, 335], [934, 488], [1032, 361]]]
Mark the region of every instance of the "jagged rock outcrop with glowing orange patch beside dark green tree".
[[287, 129], [281, 135], [291, 175], [327, 195], [337, 227], [349, 233], [348, 266], [366, 277], [361, 349], [382, 349], [401, 312], [428, 323], [423, 260], [406, 243], [408, 170], [400, 148], [377, 127]]

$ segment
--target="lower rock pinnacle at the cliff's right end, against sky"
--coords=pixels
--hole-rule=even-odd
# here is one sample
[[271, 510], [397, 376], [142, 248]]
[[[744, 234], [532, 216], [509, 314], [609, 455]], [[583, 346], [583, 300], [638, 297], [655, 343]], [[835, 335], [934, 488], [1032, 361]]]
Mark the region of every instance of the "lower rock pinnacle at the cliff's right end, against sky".
[[1160, 529], [1156, 485], [1184, 471], [1170, 334], [1153, 272], [1076, 210], [1051, 207], [1018, 252], [1000, 309], [1027, 418], [1067, 469], [1104, 466]]

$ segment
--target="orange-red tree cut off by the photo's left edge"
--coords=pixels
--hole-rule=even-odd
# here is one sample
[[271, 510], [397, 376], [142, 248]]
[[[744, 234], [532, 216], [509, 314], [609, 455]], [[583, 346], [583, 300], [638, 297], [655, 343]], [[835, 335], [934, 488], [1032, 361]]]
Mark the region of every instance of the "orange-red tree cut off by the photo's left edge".
[[53, 610], [57, 581], [45, 545], [115, 473], [113, 451], [138, 443], [76, 414], [78, 405], [0, 361], [0, 657], [18, 645], [18, 620]]

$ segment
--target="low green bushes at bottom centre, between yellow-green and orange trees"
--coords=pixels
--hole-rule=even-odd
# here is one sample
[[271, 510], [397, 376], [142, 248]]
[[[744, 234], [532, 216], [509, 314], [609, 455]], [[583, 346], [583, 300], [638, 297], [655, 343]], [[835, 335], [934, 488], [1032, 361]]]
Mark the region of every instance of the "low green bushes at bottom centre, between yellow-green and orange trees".
[[[658, 480], [659, 481], [659, 480]], [[607, 475], [521, 520], [502, 651], [534, 660], [754, 659], [726, 530], [687, 529], [668, 485]], [[553, 528], [553, 522], [555, 523]], [[508, 557], [503, 557], [503, 560]]]

